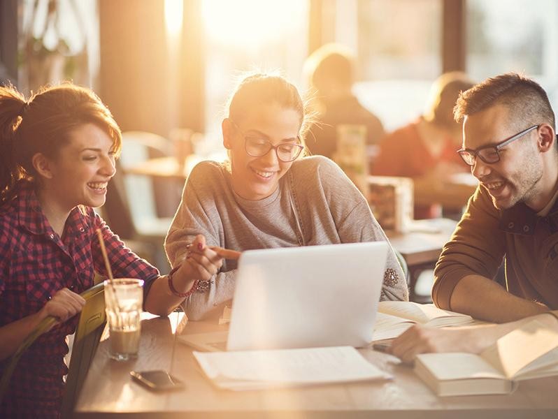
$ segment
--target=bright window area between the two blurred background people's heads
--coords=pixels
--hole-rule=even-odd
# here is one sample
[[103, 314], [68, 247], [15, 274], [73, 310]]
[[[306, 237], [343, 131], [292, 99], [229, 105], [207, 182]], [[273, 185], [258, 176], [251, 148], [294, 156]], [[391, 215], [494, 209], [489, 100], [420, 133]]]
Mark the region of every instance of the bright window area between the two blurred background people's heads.
[[[336, 8], [345, 1], [336, 0]], [[442, 71], [442, 1], [351, 1], [356, 2], [354, 22], [335, 26], [357, 31], [357, 45], [347, 45], [357, 56], [353, 90], [392, 131], [422, 114], [430, 85]], [[343, 39], [350, 37], [337, 29], [325, 41]]]

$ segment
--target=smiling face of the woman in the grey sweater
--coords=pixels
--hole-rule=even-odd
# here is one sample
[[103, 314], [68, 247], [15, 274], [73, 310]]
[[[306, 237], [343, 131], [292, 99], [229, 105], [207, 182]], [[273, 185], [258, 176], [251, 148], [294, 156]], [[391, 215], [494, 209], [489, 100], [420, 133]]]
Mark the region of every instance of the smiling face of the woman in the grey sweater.
[[247, 200], [264, 199], [276, 191], [279, 179], [289, 170], [292, 162], [280, 161], [274, 149], [261, 157], [249, 156], [245, 149], [245, 137], [262, 138], [274, 146], [297, 143], [301, 116], [294, 109], [267, 103], [250, 110], [235, 124], [238, 128], [229, 119], [223, 122], [223, 144], [230, 152], [233, 189]]

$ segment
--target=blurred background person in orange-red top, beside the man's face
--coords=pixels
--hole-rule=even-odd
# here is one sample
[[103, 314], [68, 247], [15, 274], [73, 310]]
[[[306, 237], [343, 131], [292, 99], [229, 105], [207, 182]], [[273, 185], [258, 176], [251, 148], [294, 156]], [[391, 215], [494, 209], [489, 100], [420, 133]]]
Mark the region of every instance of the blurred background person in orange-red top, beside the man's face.
[[[435, 188], [452, 174], [468, 172], [456, 152], [462, 134], [461, 124], [453, 119], [453, 107], [459, 92], [472, 86], [473, 82], [458, 71], [437, 78], [424, 115], [383, 138], [371, 173], [411, 177], [417, 196], [421, 190]], [[440, 205], [415, 205], [415, 219], [436, 216], [441, 216]]]

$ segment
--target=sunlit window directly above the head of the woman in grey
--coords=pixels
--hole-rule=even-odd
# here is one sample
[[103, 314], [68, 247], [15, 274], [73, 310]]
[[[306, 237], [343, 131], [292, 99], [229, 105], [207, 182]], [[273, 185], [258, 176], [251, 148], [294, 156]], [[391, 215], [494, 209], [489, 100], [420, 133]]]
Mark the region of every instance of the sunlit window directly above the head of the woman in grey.
[[225, 105], [248, 71], [279, 71], [301, 87], [308, 54], [308, 0], [202, 0], [206, 51], [206, 142], [222, 149]]

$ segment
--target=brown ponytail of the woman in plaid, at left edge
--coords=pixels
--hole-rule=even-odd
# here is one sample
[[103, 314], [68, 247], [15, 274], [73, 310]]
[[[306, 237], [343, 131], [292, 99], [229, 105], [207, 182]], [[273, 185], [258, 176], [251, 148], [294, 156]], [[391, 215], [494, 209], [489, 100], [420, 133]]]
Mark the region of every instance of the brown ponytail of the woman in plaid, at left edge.
[[0, 87], [0, 205], [13, 198], [15, 183], [24, 177], [17, 162], [17, 128], [27, 101], [15, 87]]

